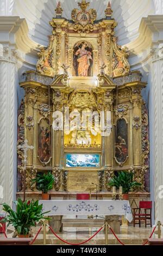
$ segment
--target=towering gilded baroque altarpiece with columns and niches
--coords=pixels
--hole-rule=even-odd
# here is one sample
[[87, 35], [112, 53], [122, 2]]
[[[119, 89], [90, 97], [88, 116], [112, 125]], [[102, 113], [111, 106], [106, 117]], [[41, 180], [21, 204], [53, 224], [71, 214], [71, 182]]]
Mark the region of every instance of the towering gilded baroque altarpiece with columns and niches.
[[[117, 44], [110, 3], [106, 17], [97, 21], [96, 10], [82, 1], [72, 10], [72, 21], [62, 18], [58, 4], [48, 47], [41, 47], [36, 71], [27, 71], [20, 86], [25, 90], [18, 110], [18, 145], [24, 138], [28, 151], [27, 192], [37, 173], [51, 170], [53, 191], [110, 191], [108, 182], [115, 172], [127, 170], [148, 190], [148, 112], [141, 96], [146, 83], [139, 71], [130, 71], [127, 50]], [[109, 136], [93, 130], [53, 129], [53, 113], [60, 111], [107, 111], [111, 113]], [[72, 120], [71, 120], [72, 121]], [[89, 122], [87, 122], [89, 123]], [[59, 125], [59, 122], [58, 122]], [[106, 125], [107, 126], [107, 125]], [[98, 155], [95, 167], [66, 165], [67, 155]], [[22, 151], [18, 150], [18, 192], [23, 189]]]

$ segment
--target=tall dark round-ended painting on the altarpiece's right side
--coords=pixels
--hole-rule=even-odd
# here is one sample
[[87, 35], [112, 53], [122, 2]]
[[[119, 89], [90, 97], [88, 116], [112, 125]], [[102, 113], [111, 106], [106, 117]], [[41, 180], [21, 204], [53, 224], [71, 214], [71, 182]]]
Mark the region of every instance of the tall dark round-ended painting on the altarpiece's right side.
[[115, 157], [118, 163], [124, 163], [128, 156], [128, 125], [126, 120], [119, 119], [116, 126]]

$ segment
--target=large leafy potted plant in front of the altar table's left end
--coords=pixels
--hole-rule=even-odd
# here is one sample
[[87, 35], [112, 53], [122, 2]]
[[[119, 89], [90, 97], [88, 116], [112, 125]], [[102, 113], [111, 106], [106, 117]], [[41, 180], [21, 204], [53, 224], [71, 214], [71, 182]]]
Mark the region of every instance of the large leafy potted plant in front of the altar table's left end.
[[13, 211], [8, 204], [3, 204], [3, 210], [7, 213], [1, 223], [8, 222], [8, 226], [12, 224], [18, 237], [29, 237], [29, 231], [32, 227], [36, 227], [37, 222], [41, 219], [49, 220], [43, 217], [47, 212], [42, 213], [43, 205], [39, 205], [39, 201], [26, 200], [23, 202], [18, 198], [14, 202], [16, 204], [16, 211]]

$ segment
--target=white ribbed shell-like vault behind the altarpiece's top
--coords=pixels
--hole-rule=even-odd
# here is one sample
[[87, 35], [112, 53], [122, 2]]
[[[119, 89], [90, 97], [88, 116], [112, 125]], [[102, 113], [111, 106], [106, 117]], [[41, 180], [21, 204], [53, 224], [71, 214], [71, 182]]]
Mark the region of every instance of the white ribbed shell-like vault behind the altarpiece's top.
[[[78, 8], [80, 0], [60, 0], [66, 19], [71, 19], [71, 11]], [[104, 10], [108, 0], [89, 0], [90, 8], [97, 10], [97, 19], [105, 17]], [[112, 17], [118, 22], [116, 36], [121, 45], [133, 41], [139, 35], [142, 17], [154, 14], [153, 0], [112, 0]], [[41, 45], [48, 44], [47, 36], [52, 29], [49, 21], [54, 16], [58, 0], [15, 0], [13, 15], [25, 18], [29, 27], [29, 36]]]

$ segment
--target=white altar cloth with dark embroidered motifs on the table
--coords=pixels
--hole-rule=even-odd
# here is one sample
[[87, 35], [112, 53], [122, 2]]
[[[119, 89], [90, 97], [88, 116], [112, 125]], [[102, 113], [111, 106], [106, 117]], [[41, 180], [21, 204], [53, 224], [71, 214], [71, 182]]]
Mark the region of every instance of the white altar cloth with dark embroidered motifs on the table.
[[127, 200], [40, 200], [45, 216], [55, 215], [124, 215], [131, 222], [130, 203]]

